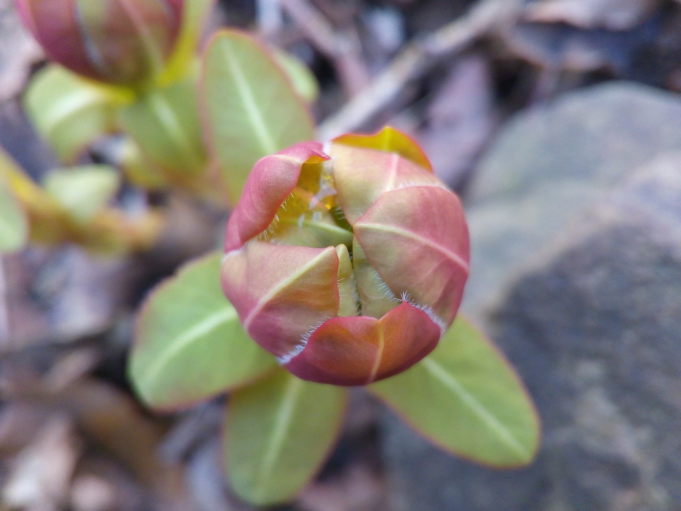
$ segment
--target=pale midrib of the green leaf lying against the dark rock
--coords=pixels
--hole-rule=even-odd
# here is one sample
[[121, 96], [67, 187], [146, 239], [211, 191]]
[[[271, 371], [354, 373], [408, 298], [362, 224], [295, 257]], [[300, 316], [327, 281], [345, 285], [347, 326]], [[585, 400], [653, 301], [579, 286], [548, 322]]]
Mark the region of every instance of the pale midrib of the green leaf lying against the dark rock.
[[527, 450], [523, 448], [518, 439], [501, 423], [473, 394], [471, 394], [456, 378], [444, 367], [436, 362], [432, 356], [422, 360], [422, 365], [432, 377], [439, 380], [446, 388], [451, 390], [460, 401], [468, 407], [491, 431], [494, 431], [499, 439], [522, 459], [527, 457]]

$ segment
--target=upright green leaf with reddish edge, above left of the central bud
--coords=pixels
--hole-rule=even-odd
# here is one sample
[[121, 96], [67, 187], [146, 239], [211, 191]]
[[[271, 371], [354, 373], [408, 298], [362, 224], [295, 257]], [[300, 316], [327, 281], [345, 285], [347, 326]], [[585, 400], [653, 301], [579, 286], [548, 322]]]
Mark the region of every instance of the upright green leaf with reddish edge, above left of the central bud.
[[206, 136], [236, 204], [255, 162], [313, 140], [313, 120], [270, 52], [247, 33], [219, 32], [202, 73]]

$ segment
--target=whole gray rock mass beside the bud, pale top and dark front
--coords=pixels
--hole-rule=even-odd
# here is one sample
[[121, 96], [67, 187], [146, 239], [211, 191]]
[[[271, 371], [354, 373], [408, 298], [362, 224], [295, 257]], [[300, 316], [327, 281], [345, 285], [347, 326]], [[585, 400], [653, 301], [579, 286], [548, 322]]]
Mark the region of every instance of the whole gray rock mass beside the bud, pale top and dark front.
[[464, 308], [528, 384], [543, 448], [526, 469], [491, 471], [388, 416], [394, 509], [681, 508], [681, 153], [665, 156], [681, 150], [681, 124], [671, 112], [679, 119], [681, 100], [667, 93], [595, 87], [522, 115], [490, 150], [469, 203]]

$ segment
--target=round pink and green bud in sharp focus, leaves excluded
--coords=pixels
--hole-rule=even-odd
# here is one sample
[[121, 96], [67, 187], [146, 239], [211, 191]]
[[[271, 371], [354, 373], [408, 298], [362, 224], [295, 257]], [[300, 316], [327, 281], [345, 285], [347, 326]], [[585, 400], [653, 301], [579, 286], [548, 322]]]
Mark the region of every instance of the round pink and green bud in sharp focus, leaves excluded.
[[385, 128], [297, 144], [255, 164], [227, 224], [222, 284], [291, 373], [364, 385], [428, 355], [469, 272], [458, 197]]

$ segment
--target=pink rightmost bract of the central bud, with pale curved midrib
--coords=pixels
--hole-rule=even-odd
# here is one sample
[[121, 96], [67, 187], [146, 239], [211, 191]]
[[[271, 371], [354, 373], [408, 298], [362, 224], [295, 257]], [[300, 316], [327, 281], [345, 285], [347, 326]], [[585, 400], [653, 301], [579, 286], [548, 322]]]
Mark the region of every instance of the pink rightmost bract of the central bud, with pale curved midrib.
[[454, 193], [434, 186], [388, 191], [355, 223], [355, 237], [392, 292], [452, 324], [469, 273], [469, 232]]

